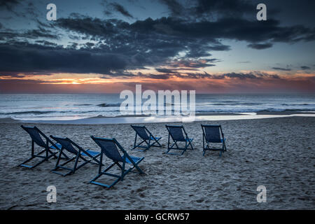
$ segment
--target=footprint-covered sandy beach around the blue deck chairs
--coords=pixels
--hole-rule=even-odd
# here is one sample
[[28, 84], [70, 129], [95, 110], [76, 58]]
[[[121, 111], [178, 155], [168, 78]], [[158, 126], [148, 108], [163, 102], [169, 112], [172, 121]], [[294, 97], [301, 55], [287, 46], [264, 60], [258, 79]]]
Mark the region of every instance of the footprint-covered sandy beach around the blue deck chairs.
[[[201, 123], [223, 126], [228, 152], [222, 158], [218, 152], [202, 157]], [[0, 209], [315, 209], [315, 118], [183, 123], [195, 147], [184, 155], [162, 154], [165, 124], [146, 124], [164, 147], [144, 153], [130, 151], [134, 131], [128, 124], [36, 124], [48, 136], [69, 137], [95, 151], [90, 135], [115, 137], [130, 155], [145, 157], [140, 167], [146, 174], [128, 174], [106, 190], [88, 184], [97, 165], [66, 177], [50, 172], [55, 159], [35, 169], [16, 167], [29, 157], [31, 139], [20, 123], [6, 120], [0, 124]], [[56, 203], [46, 202], [51, 185]], [[258, 186], [267, 188], [265, 203], [256, 201]]]

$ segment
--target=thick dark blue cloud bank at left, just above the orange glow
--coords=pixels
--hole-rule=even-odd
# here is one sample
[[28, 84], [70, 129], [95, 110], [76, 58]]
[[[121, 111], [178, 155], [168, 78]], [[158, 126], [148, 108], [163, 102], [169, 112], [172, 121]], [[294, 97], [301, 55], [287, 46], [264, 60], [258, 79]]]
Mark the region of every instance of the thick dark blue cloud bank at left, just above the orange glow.
[[128, 63], [122, 55], [29, 43], [1, 44], [0, 61], [0, 71], [48, 73], [108, 73], [125, 69]]

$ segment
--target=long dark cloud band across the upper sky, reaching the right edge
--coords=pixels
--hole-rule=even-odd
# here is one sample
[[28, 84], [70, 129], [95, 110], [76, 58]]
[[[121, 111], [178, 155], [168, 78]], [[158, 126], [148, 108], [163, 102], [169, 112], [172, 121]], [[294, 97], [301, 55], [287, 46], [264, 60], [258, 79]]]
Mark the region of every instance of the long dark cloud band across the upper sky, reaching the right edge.
[[121, 20], [100, 20], [97, 18], [66, 18], [57, 20], [57, 25], [71, 31], [92, 36], [109, 36], [110, 34], [131, 34], [130, 38], [179, 38], [181, 41], [203, 41], [216, 43], [209, 50], [228, 50], [228, 46], [218, 42], [218, 38], [235, 39], [259, 43], [263, 41], [294, 43], [297, 41], [315, 40], [315, 29], [303, 26], [281, 27], [279, 21], [248, 21], [242, 18], [223, 18], [215, 22], [187, 22], [179, 18], [159, 18], [137, 20], [132, 24]]

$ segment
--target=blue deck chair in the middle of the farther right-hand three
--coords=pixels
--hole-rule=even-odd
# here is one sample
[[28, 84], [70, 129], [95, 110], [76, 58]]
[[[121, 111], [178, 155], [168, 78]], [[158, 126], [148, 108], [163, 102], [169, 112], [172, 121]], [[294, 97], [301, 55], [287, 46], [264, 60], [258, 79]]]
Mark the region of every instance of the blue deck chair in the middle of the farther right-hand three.
[[[169, 153], [169, 151], [171, 151], [172, 149], [176, 149], [176, 150], [182, 150], [183, 152], [181, 153], [181, 155], [183, 155], [183, 153], [186, 152], [189, 146], [190, 146], [190, 149], [192, 150], [194, 149], [193, 145], [191, 144], [193, 139], [188, 138], [188, 134], [186, 133], [185, 128], [183, 126], [165, 125], [165, 127], [167, 128], [167, 131], [169, 132], [169, 138], [167, 141], [167, 152], [165, 154], [179, 155], [176, 153]], [[172, 144], [172, 146], [169, 146], [171, 144], [170, 142], [171, 138], [174, 141], [174, 143]], [[177, 144], [178, 142], [185, 142], [185, 148], [180, 148], [179, 145]]]

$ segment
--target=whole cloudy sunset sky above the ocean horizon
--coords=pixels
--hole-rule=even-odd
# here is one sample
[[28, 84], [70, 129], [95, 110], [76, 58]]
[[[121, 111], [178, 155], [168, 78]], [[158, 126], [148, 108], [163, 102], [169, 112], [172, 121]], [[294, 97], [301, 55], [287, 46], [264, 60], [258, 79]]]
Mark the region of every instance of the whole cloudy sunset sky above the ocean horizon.
[[[258, 3], [266, 21], [256, 19]], [[311, 0], [0, 0], [0, 93], [119, 93], [137, 84], [314, 93], [314, 9]]]

